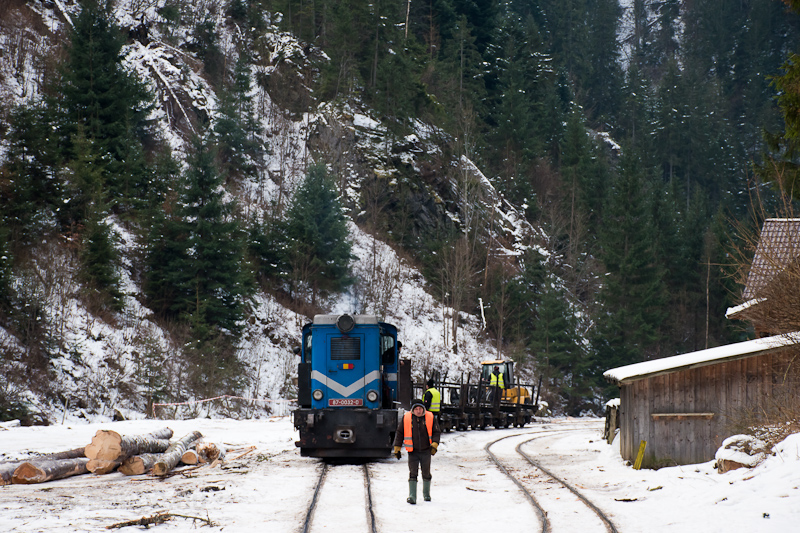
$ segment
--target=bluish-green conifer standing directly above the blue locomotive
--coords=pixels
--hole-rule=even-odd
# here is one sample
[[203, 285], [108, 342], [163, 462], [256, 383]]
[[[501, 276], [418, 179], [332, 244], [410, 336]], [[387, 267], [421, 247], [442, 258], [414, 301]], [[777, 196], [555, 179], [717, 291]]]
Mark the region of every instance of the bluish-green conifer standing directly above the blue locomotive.
[[308, 169], [287, 212], [286, 238], [295, 285], [311, 285], [312, 303], [319, 291], [339, 291], [352, 282], [352, 243], [333, 180], [325, 166]]

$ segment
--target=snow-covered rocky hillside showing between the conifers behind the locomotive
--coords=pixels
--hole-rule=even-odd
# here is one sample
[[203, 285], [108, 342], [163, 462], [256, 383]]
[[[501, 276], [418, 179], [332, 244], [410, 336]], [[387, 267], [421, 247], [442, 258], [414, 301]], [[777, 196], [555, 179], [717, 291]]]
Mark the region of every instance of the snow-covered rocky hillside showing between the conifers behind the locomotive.
[[[180, 25], [169, 23], [159, 14], [164, 5], [165, 0], [144, 3], [123, 0], [114, 4], [113, 16], [131, 36], [124, 48], [125, 65], [145, 80], [156, 95], [157, 105], [150, 117], [155, 131], [176, 153], [183, 154], [188, 138], [196, 133], [197, 117], [213, 120], [219, 107], [214, 90], [204, 77], [202, 63], [182, 46], [193, 38], [189, 30], [195, 22], [192, 16], [216, 17], [219, 47], [231, 63], [246, 29], [226, 20], [225, 10], [218, 1], [194, 2], [194, 15], [190, 14]], [[0, 98], [23, 104], [41, 94], [45, 69], [52, 68], [55, 57], [52, 51], [63, 42], [79, 7], [59, 1], [20, 1], [9, 3], [5, 9], [9, 16], [0, 21], [0, 48], [4, 51], [0, 54]], [[276, 15], [264, 14], [270, 28], [273, 16]], [[259, 124], [258, 136], [269, 152], [258, 176], [245, 179], [230, 191], [247, 218], [257, 219], [282, 209], [302, 181], [315, 153], [331, 139], [342, 143], [339, 147], [342, 155], [334, 162], [333, 170], [345, 201], [358, 198], [365, 176], [384, 177], [391, 190], [399, 179], [396, 165], [419, 173], [420, 158], [439, 152], [435, 139], [441, 132], [425, 124], [417, 124], [416, 134], [397, 139], [370, 116], [368, 109], [355, 109], [354, 104], [338, 107], [314, 104], [299, 113], [296, 108], [283, 107], [283, 103], [291, 100], [285, 94], [287, 91], [306, 91], [305, 101], [314, 102], [303, 80], [313, 75], [312, 59], [324, 60], [324, 54], [277, 29], [255, 39], [258, 50], [268, 53], [256, 53], [254, 57], [250, 96]], [[285, 85], [276, 92], [274, 86], [263, 82], [270, 76], [280, 77]], [[0, 145], [0, 157], [2, 154]], [[462, 176], [469, 175], [479, 184], [482, 209], [494, 213], [491, 219], [506, 253], [519, 254], [526, 246], [544, 242], [543, 236], [499, 197], [471, 161], [457, 159], [452, 165], [459, 167]], [[422, 181], [421, 187], [435, 200], [431, 201], [435, 209], [463, 222], [459, 199], [465, 191], [457, 183], [442, 181], [438, 189]], [[50, 422], [75, 414], [92, 420], [108, 419], [115, 413], [137, 418], [146, 410], [146, 381], [155, 369], [176, 387], [173, 396], [182, 400], [179, 406], [159, 407], [168, 409], [173, 416], [235, 413], [257, 417], [285, 412], [286, 400], [293, 396], [296, 375], [296, 359], [291, 349], [299, 342], [300, 328], [310, 317], [287, 309], [268, 294], [257, 294], [238, 346], [238, 357], [245, 363], [248, 380], [246, 387], [236, 392], [241, 399], [196, 403], [205, 398], [191, 391], [180, 391], [180, 369], [170, 364], [182, 348], [176, 344], [179, 341], [170, 338], [141, 303], [141, 287], [132, 276], [141, 243], [137, 242], [135, 232], [120, 220], [109, 217], [108, 222], [119, 238], [125, 265], [121, 272], [123, 311], [114, 316], [93, 314], [77, 297], [80, 286], [76, 281], [76, 260], [63, 243], [44, 242], [35, 247], [32, 271], [19, 273], [14, 283], [20, 291], [28, 291], [31, 297], [45, 302], [43, 312], [47, 322], [58, 330], [57, 343], [62, 348], [58, 357], [50, 361], [54, 371], [50, 389], [55, 394], [45, 397], [35, 390], [17, 390], [14, 394], [23, 397], [34, 412]], [[406, 258], [398, 256], [385, 243], [376, 242], [355, 223], [351, 223], [350, 229], [357, 256], [353, 270], [359, 282], [348, 293], [325, 302], [325, 307], [334, 312], [376, 313], [396, 324], [405, 356], [414, 361], [416, 376], [431, 370], [459, 375], [476, 370], [478, 362], [487, 357], [496, 357], [477, 316], [461, 314], [454, 318], [453, 311], [437, 301], [420, 271]], [[447, 324], [453, 320], [461, 324], [457, 339], [448, 334]], [[457, 352], [453, 349], [456, 341]], [[2, 328], [0, 344], [10, 350], [25, 350], [20, 339]], [[14, 363], [9, 361], [9, 365]], [[15, 368], [24, 372], [20, 365]]]

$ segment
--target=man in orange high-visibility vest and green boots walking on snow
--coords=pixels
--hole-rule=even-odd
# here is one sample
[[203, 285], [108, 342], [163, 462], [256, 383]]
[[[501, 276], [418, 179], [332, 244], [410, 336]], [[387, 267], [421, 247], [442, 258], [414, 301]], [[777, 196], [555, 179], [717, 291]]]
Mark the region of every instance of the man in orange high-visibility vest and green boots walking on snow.
[[394, 437], [394, 455], [400, 459], [400, 446], [408, 452], [408, 503], [417, 503], [417, 471], [422, 468], [422, 497], [431, 501], [431, 456], [439, 447], [439, 423], [425, 410], [422, 400], [411, 402], [411, 412], [403, 415]]

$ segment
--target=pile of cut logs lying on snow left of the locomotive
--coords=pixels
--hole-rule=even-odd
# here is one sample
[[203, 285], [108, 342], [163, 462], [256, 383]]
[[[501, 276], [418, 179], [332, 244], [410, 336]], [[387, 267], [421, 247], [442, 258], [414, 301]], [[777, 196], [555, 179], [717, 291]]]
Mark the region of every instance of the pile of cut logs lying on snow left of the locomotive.
[[166, 476], [179, 463], [213, 464], [224, 457], [222, 447], [205, 442], [198, 431], [174, 442], [170, 442], [171, 438], [169, 428], [146, 435], [124, 436], [101, 429], [91, 444], [83, 448], [0, 463], [0, 485], [42, 483], [89, 472]]

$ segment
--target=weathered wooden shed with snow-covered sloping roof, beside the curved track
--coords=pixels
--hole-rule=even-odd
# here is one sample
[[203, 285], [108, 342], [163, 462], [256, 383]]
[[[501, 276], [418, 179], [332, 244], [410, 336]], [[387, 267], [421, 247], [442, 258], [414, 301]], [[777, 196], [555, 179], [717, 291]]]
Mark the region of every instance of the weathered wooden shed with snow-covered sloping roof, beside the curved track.
[[634, 462], [645, 441], [646, 468], [714, 459], [746, 413], [797, 400], [798, 354], [799, 334], [777, 335], [608, 370], [622, 457]]

